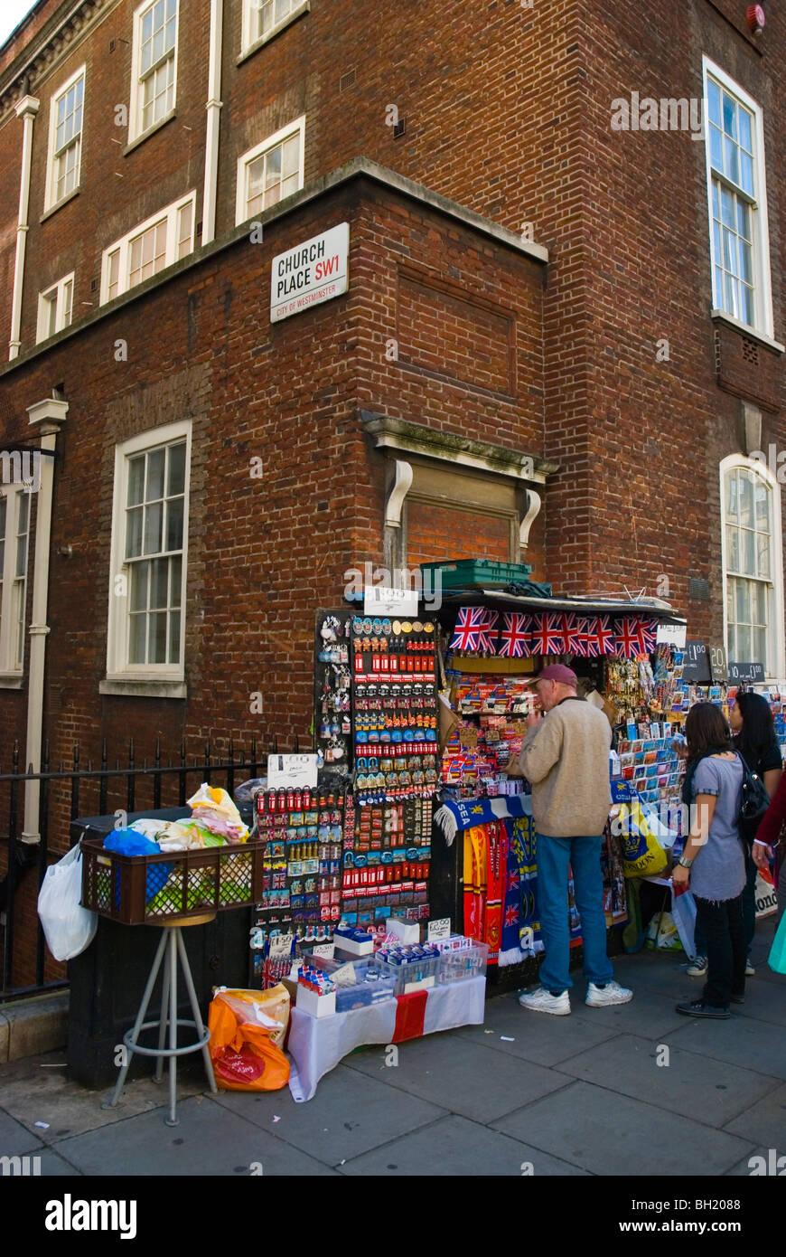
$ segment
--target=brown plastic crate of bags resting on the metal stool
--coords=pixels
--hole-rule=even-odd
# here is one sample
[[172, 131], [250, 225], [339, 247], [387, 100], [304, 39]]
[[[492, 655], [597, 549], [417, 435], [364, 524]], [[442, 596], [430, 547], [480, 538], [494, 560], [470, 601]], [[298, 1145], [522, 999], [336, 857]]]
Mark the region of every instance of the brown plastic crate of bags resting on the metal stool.
[[262, 897], [264, 842], [123, 856], [102, 838], [82, 841], [82, 903], [123, 925], [156, 925], [256, 904]]

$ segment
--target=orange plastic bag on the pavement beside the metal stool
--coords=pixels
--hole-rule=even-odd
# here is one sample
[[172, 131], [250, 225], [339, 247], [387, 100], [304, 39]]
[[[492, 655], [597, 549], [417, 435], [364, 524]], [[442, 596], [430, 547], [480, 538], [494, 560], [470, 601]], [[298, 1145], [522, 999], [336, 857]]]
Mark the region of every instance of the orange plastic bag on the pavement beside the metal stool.
[[285, 1087], [289, 1061], [277, 1045], [288, 1022], [289, 992], [281, 983], [270, 991], [217, 991], [207, 1016], [216, 1085], [223, 1091]]

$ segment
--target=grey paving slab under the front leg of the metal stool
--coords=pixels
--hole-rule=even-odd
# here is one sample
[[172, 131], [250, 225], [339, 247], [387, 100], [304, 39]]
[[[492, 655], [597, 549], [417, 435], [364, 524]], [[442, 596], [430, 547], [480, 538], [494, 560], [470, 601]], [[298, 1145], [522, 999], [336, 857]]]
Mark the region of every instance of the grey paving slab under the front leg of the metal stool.
[[157, 1109], [63, 1139], [57, 1151], [89, 1175], [269, 1178], [334, 1173], [212, 1099], [192, 1096], [178, 1104], [178, 1126], [164, 1124], [167, 1111]]

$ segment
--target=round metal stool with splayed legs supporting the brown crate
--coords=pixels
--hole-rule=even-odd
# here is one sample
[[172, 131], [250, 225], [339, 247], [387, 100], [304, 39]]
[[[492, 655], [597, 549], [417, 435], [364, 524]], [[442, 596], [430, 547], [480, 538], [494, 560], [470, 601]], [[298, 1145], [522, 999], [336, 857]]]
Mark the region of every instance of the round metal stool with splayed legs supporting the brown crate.
[[[205, 925], [207, 921], [215, 920], [215, 913], [205, 913], [202, 916], [173, 916], [170, 921], [162, 921], [161, 929], [161, 941], [158, 944], [158, 950], [156, 952], [156, 959], [153, 960], [153, 967], [149, 972], [147, 979], [147, 985], [144, 988], [144, 994], [142, 996], [142, 1003], [139, 1004], [139, 1012], [137, 1013], [137, 1019], [133, 1024], [133, 1029], [126, 1031], [123, 1035], [123, 1043], [126, 1045], [127, 1057], [124, 1065], [121, 1067], [118, 1080], [114, 1085], [114, 1091], [112, 1099], [102, 1104], [102, 1109], [114, 1109], [117, 1105], [121, 1091], [123, 1090], [123, 1084], [128, 1075], [131, 1067], [131, 1056], [133, 1052], [138, 1052], [141, 1056], [154, 1056], [156, 1060], [156, 1073], [154, 1081], [161, 1082], [163, 1075], [163, 1061], [164, 1057], [170, 1057], [170, 1116], [164, 1119], [167, 1126], [177, 1126], [178, 1119], [176, 1116], [175, 1109], [177, 1104], [177, 1057], [186, 1056], [188, 1052], [202, 1052], [205, 1060], [205, 1072], [207, 1073], [207, 1081], [210, 1082], [210, 1090], [216, 1092], [216, 1077], [213, 1075], [213, 1062], [210, 1058], [210, 1048], [207, 1042], [210, 1040], [210, 1031], [205, 1028], [202, 1022], [202, 1016], [200, 1013], [200, 1004], [196, 997], [196, 991], [193, 987], [193, 978], [191, 975], [191, 967], [188, 964], [188, 957], [186, 955], [186, 944], [183, 943], [183, 936], [181, 929], [186, 925]], [[144, 1021], [144, 1014], [147, 1012], [147, 1006], [151, 1002], [151, 996], [153, 994], [153, 987], [156, 985], [156, 979], [158, 977], [158, 970], [163, 959], [164, 949], [167, 950], [167, 958], [163, 968], [163, 989], [161, 993], [161, 1021]], [[183, 970], [183, 978], [186, 979], [186, 989], [188, 991], [188, 999], [191, 1002], [191, 1012], [193, 1013], [193, 1021], [183, 1021], [177, 1017], [177, 957], [180, 955], [181, 968]], [[170, 1002], [170, 1012], [167, 1016], [167, 999]], [[163, 1041], [166, 1036], [167, 1024], [170, 1027], [170, 1046], [164, 1047]], [[187, 1047], [177, 1046], [177, 1027], [178, 1026], [193, 1026], [197, 1032], [196, 1043], [188, 1043]], [[153, 1029], [158, 1027], [158, 1047], [141, 1047], [138, 1043], [139, 1035], [143, 1029]]]

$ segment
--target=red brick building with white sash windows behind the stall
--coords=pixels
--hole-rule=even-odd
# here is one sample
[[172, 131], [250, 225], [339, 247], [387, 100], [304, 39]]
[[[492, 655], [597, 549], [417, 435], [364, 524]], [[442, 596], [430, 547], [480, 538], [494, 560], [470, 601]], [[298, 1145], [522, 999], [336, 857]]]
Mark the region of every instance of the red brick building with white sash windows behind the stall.
[[[786, 675], [786, 19], [674, 18], [40, 0], [0, 50], [0, 439], [55, 455], [0, 507], [4, 769], [308, 738], [367, 562], [644, 588]], [[347, 290], [272, 319], [340, 224]]]

